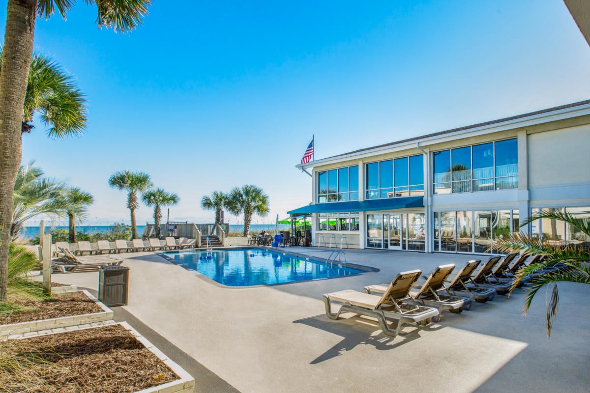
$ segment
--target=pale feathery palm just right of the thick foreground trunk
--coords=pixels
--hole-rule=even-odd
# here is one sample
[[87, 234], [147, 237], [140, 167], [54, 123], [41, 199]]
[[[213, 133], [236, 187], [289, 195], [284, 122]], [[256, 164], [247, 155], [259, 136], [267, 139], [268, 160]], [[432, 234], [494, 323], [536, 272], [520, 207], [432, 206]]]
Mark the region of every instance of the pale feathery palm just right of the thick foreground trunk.
[[42, 177], [41, 168], [34, 162], [19, 168], [14, 186], [12, 202], [12, 222], [10, 235], [16, 239], [24, 223], [40, 214], [55, 218], [65, 217], [68, 212], [76, 216], [84, 214], [83, 207], [70, 203], [67, 199], [68, 186], [63, 181]]

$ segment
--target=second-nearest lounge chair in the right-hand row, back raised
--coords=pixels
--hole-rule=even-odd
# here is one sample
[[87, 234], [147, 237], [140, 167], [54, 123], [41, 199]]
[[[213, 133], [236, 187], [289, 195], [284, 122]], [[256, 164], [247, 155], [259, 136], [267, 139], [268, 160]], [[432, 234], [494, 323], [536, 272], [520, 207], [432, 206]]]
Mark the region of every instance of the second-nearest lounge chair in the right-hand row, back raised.
[[[443, 310], [460, 313], [463, 310], [470, 309], [470, 298], [455, 296], [445, 287], [445, 281], [453, 272], [453, 269], [455, 269], [453, 263], [438, 266], [430, 273], [424, 283], [414, 286], [409, 295], [420, 305], [437, 308], [439, 313]], [[378, 284], [365, 286], [363, 290], [366, 293], [382, 294], [385, 293], [387, 288], [388, 284]]]

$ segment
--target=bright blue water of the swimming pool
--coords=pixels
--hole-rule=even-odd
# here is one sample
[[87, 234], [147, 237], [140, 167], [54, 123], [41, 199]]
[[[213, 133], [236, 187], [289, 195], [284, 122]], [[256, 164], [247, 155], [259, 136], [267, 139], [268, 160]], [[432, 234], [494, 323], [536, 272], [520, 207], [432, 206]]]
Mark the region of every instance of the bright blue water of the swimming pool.
[[365, 270], [263, 249], [166, 252], [166, 256], [186, 269], [227, 286], [272, 285], [303, 280], [352, 276]]

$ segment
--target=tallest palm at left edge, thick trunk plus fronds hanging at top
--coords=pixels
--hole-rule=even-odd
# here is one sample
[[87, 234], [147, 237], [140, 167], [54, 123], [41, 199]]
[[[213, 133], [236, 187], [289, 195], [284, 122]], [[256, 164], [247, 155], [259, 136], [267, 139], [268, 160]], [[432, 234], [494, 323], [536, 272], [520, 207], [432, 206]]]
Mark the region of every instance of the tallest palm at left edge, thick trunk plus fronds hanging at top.
[[[132, 31], [147, 14], [151, 0], [86, 0], [97, 4], [96, 23], [116, 32]], [[4, 54], [0, 72], [0, 302], [6, 300], [12, 191], [22, 156], [22, 121], [31, 65], [35, 19], [50, 18], [55, 9], [65, 19], [71, 0], [8, 0]]]

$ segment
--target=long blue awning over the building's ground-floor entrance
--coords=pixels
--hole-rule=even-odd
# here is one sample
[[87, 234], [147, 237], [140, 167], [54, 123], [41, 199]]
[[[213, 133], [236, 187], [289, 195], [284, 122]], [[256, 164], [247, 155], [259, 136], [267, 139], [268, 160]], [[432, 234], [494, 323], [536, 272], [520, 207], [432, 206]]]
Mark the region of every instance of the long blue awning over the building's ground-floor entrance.
[[424, 197], [415, 196], [316, 203], [291, 210], [287, 214], [293, 216], [312, 213], [374, 212], [376, 210], [407, 209], [408, 207], [424, 207]]

